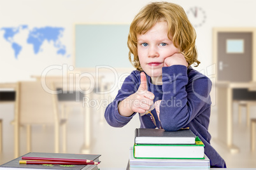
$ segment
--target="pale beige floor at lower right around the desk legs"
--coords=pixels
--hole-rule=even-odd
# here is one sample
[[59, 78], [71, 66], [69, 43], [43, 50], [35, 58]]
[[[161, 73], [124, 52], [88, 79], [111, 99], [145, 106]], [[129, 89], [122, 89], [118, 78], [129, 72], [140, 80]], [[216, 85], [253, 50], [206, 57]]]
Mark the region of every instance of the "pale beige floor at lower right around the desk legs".
[[[246, 126], [246, 110], [243, 110], [241, 124], [238, 123], [238, 106], [234, 104], [233, 119], [233, 144], [239, 148], [239, 152], [232, 154], [229, 149], [217, 139], [217, 112], [213, 109], [211, 113], [210, 133], [213, 138], [211, 145], [224, 158], [227, 167], [232, 168], [256, 168], [256, 152], [250, 150], [250, 128]], [[256, 117], [252, 108], [251, 116]], [[255, 143], [256, 145], [256, 143]]]

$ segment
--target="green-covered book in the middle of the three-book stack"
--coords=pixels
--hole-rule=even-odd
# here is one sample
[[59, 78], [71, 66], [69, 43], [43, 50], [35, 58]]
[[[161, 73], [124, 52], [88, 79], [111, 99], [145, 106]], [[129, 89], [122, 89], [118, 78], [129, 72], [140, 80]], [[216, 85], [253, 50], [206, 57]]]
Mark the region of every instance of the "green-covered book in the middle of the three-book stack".
[[153, 159], [204, 159], [204, 144], [197, 137], [196, 144], [141, 145], [134, 144], [135, 158]]

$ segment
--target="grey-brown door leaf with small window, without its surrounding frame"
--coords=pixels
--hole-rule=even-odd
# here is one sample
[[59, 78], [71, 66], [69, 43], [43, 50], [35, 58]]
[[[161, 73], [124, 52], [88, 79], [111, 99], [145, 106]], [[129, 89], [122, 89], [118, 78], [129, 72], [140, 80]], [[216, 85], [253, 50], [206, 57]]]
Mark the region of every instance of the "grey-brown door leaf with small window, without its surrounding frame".
[[218, 32], [218, 81], [252, 81], [252, 32]]

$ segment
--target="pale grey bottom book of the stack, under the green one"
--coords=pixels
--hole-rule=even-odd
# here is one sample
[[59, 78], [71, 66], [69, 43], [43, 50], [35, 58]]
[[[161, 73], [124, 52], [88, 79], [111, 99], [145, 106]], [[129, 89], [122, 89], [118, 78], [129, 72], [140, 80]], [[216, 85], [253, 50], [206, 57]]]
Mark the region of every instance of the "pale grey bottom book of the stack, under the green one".
[[139, 169], [210, 169], [210, 159], [136, 159], [133, 157], [133, 148], [129, 150], [129, 168]]

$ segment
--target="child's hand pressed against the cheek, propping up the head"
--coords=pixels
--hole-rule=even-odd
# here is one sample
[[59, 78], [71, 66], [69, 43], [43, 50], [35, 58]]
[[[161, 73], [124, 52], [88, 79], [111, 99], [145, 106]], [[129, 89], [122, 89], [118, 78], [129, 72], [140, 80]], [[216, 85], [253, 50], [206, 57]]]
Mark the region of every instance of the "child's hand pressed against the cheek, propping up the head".
[[164, 67], [169, 67], [172, 65], [185, 65], [186, 67], [188, 67], [188, 63], [184, 55], [182, 55], [181, 53], [174, 53], [174, 55], [168, 56], [164, 60]]

